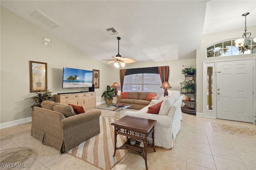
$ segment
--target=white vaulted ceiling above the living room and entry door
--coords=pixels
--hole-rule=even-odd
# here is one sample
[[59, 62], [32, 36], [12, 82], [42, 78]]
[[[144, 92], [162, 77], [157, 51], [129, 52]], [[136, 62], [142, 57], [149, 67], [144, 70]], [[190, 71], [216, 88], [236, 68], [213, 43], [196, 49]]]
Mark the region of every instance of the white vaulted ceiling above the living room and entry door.
[[[118, 53], [117, 37], [122, 57], [138, 62], [194, 58], [203, 34], [243, 28], [241, 15], [246, 12], [250, 12], [247, 26], [256, 25], [255, 0], [1, 0], [0, 4], [98, 60]], [[36, 20], [30, 16], [35, 10], [60, 26], [49, 28]]]

